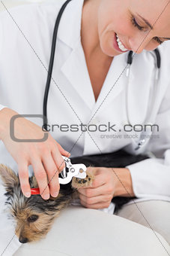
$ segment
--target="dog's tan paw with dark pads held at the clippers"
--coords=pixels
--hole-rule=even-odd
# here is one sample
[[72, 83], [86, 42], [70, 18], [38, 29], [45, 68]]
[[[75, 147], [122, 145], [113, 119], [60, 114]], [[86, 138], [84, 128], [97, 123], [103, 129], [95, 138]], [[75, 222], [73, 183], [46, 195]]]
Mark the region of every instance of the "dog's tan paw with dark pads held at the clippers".
[[72, 187], [79, 188], [79, 187], [91, 187], [94, 181], [94, 175], [92, 173], [86, 172], [87, 175], [85, 178], [76, 178], [73, 177], [72, 179]]

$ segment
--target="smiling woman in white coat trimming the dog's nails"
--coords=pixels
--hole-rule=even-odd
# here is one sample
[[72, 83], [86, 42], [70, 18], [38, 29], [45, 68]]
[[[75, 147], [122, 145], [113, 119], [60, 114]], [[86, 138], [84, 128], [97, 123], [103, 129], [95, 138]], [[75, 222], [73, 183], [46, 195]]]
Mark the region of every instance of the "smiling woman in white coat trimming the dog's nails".
[[[149, 154], [151, 158], [123, 169], [113, 166], [114, 172], [111, 168], [91, 167], [93, 187], [79, 189], [80, 203], [86, 209], [68, 207], [43, 242], [22, 245], [16, 251], [20, 244], [17, 239], [10, 242], [14, 233], [1, 212], [5, 237], [1, 250], [10, 242], [4, 255], [12, 251], [17, 256], [30, 251], [45, 255], [46, 250], [52, 250], [50, 255], [74, 256], [167, 255], [169, 1], [68, 3], [58, 28], [49, 88], [48, 139], [42, 142], [46, 134], [42, 130], [43, 97], [52, 33], [63, 4], [63, 0], [46, 1], [9, 11], [4, 5], [1, 12], [0, 163], [19, 172], [25, 197], [30, 197], [28, 172], [34, 172], [40, 193], [47, 200], [49, 194], [58, 196], [56, 170], [64, 168], [61, 154], [77, 157], [124, 148], [130, 154]], [[130, 51], [136, 54], [130, 56]], [[49, 186], [46, 175], [52, 179]], [[94, 210], [108, 208], [115, 196], [138, 200], [124, 205], [118, 216]]]

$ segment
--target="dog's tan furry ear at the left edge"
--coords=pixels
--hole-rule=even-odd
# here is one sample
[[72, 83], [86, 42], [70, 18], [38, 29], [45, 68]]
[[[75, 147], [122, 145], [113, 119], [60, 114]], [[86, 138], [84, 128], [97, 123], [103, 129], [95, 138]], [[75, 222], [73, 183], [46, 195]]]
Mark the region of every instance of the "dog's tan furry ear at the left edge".
[[4, 166], [4, 164], [0, 164], [0, 178], [3, 181], [4, 187], [7, 191], [19, 184], [19, 178], [15, 172], [13, 172], [13, 170], [9, 167]]

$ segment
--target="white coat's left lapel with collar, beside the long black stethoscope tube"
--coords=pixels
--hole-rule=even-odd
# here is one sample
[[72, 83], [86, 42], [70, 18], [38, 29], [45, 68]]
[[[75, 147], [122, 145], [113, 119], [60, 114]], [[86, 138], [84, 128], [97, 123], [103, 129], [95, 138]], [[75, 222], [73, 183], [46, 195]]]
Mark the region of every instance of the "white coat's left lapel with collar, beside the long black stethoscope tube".
[[[58, 29], [58, 38], [70, 47], [70, 54], [61, 66], [61, 72], [82, 98], [88, 108], [95, 104], [94, 93], [88, 75], [81, 44], [82, 5], [84, 0], [72, 0], [65, 9]], [[67, 28], [67, 31], [66, 29]], [[74, 92], [73, 92], [74, 93]], [[76, 99], [76, 97], [75, 97]]]

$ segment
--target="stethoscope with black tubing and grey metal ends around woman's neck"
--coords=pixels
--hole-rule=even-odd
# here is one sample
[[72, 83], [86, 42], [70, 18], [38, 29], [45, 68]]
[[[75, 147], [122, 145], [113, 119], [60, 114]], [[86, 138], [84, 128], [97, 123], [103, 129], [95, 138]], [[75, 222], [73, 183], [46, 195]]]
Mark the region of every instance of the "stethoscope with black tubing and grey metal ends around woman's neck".
[[[64, 5], [62, 5], [62, 7], [58, 13], [56, 22], [55, 22], [55, 28], [54, 28], [54, 32], [53, 32], [53, 36], [52, 36], [52, 48], [51, 48], [51, 55], [50, 55], [50, 59], [49, 59], [49, 70], [48, 70], [48, 76], [47, 76], [47, 80], [46, 80], [46, 89], [45, 89], [44, 98], [43, 98], [43, 128], [45, 130], [47, 130], [47, 100], [48, 100], [48, 95], [49, 95], [49, 87], [50, 87], [50, 83], [51, 83], [52, 70], [53, 70], [53, 64], [54, 64], [54, 58], [55, 58], [55, 47], [56, 47], [56, 40], [57, 40], [57, 35], [58, 35], [58, 26], [59, 26], [62, 14], [64, 12], [64, 9], [66, 8], [67, 4], [70, 1], [71, 0], [67, 0], [66, 2], [64, 2]], [[160, 51], [158, 49], [155, 49], [153, 51], [153, 53], [156, 56], [157, 73], [155, 76], [155, 81], [156, 81], [156, 85], [157, 85], [157, 80], [159, 78], [159, 72], [160, 72], [161, 58], [160, 58]], [[127, 74], [126, 74], [127, 77], [129, 77], [129, 75], [130, 75], [130, 66], [133, 63], [134, 54], [135, 53], [133, 53], [133, 51], [130, 50], [130, 52], [128, 53], [128, 56], [127, 56]], [[129, 81], [127, 84], [127, 90], [128, 90], [128, 87], [129, 87]], [[154, 101], [154, 95], [152, 97], [151, 103], [153, 103], [153, 101]], [[126, 104], [126, 110], [127, 110], [127, 121], [130, 124], [130, 114], [128, 111], [128, 100], [127, 100], [127, 104]], [[150, 114], [147, 114], [145, 121], [149, 120], [148, 115], [150, 116]], [[142, 134], [141, 134], [139, 142], [135, 142], [136, 143], [135, 150], [138, 150], [139, 148], [141, 148], [143, 145], [146, 144], [146, 142], [147, 142], [147, 139], [143, 139]]]

